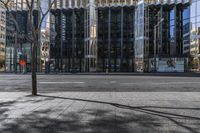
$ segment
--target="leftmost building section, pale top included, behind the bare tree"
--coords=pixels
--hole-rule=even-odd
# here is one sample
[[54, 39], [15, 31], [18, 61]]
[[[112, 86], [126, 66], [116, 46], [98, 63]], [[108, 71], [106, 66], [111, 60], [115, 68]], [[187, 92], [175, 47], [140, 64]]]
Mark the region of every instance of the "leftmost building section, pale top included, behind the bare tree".
[[[36, 2], [34, 7], [36, 7]], [[5, 11], [5, 72], [31, 71], [31, 41], [29, 40], [30, 26], [28, 25], [28, 9], [26, 2], [12, 0]], [[14, 18], [14, 19], [13, 19]], [[39, 12], [34, 10], [33, 20], [38, 23]], [[20, 60], [24, 60], [25, 67], [21, 67]], [[37, 71], [40, 71], [40, 47], [37, 50]]]

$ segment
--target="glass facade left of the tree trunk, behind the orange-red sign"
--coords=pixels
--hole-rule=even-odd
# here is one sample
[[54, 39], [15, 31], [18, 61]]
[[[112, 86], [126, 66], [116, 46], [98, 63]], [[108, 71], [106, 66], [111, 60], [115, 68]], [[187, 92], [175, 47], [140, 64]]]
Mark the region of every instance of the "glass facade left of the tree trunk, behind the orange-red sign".
[[6, 72], [22, 72], [19, 60], [23, 58], [26, 61], [25, 71], [31, 71], [31, 44], [24, 37], [28, 34], [27, 12], [13, 11], [12, 16], [16, 17], [18, 29], [11, 20], [10, 13], [7, 13], [6, 18]]

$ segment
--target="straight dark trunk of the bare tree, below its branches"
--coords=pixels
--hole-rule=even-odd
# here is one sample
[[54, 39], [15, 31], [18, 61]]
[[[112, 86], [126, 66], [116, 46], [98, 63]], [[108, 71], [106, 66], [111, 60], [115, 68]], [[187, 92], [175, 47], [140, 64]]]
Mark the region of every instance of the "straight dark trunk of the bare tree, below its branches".
[[31, 67], [31, 72], [32, 72], [32, 95], [37, 95], [37, 77], [36, 77], [36, 42], [34, 41], [32, 44], [32, 67]]

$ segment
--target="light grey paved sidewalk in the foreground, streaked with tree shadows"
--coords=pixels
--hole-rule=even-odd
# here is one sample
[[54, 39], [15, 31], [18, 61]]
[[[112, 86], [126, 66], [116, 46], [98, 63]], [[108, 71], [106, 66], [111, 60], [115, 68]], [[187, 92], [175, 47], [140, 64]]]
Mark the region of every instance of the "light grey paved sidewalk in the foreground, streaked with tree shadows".
[[199, 133], [200, 92], [0, 92], [1, 133]]

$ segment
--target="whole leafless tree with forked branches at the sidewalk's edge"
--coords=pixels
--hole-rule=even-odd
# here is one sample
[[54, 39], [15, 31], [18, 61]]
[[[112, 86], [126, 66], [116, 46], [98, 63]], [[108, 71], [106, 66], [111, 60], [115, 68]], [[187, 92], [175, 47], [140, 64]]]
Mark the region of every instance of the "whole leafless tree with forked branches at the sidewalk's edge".
[[[49, 0], [50, 1], [50, 0]], [[55, 0], [51, 0], [48, 8], [43, 10], [42, 0], [25, 0], [25, 5], [28, 13], [28, 26], [30, 27], [30, 35], [25, 35], [26, 38], [31, 42], [32, 46], [32, 59], [31, 59], [31, 72], [32, 72], [32, 95], [37, 95], [37, 76], [36, 76], [36, 51], [39, 46], [39, 35], [42, 27], [42, 23], [45, 17], [48, 15], [51, 10]], [[0, 7], [4, 8], [6, 12], [9, 14], [9, 17], [12, 18], [16, 30], [19, 32], [18, 22], [15, 20], [15, 17], [12, 15], [11, 9], [13, 8], [14, 0], [0, 0]], [[37, 5], [37, 7], [35, 7]], [[35, 24], [34, 13], [38, 12], [40, 17], [38, 18], [38, 24]]]

